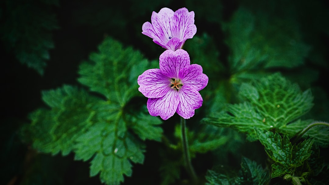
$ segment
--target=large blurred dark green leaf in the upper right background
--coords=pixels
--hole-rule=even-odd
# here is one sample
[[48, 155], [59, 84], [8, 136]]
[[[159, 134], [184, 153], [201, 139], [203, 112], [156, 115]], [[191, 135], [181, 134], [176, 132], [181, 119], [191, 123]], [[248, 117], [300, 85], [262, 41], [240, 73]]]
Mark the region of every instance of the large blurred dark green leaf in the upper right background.
[[[277, 31], [280, 30], [280, 31]], [[293, 19], [266, 16], [240, 7], [223, 23], [225, 42], [231, 49], [233, 73], [259, 68], [291, 68], [303, 64], [310, 47], [302, 42]]]

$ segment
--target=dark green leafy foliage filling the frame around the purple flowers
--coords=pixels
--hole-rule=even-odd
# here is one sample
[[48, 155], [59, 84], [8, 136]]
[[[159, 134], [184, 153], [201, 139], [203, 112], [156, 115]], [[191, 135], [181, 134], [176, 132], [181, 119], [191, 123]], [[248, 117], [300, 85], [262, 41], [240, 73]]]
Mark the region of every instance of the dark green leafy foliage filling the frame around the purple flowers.
[[[186, 120], [198, 182], [179, 116], [138, 90], [164, 52], [141, 26], [163, 7], [194, 11], [183, 49], [209, 77]], [[1, 2], [0, 184], [329, 184], [328, 18], [321, 1]]]

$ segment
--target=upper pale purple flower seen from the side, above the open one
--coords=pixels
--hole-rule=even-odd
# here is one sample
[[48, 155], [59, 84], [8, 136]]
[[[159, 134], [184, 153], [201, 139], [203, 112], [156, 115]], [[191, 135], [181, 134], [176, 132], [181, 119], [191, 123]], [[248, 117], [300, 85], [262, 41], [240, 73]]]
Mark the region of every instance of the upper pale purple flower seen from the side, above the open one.
[[162, 8], [159, 13], [153, 12], [151, 22], [142, 26], [142, 34], [149, 36], [153, 42], [165, 49], [182, 49], [187, 39], [193, 38], [196, 33], [194, 12], [186, 8], [176, 12], [169, 8]]

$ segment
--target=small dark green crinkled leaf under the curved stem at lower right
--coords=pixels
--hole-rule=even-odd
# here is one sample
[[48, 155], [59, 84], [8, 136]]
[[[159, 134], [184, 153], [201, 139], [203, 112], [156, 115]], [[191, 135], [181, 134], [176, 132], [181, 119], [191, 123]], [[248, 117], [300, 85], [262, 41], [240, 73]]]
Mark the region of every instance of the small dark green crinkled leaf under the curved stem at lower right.
[[264, 145], [268, 156], [274, 161], [271, 177], [293, 174], [297, 167], [311, 156], [313, 139], [292, 145], [289, 138], [278, 133], [255, 128], [257, 138]]

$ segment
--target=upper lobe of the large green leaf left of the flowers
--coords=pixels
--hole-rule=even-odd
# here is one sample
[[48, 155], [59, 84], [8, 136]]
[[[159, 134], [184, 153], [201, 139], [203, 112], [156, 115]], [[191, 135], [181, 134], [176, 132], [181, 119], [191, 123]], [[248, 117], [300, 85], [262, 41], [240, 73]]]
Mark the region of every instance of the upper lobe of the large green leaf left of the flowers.
[[[108, 100], [124, 106], [132, 97], [141, 95], [137, 77], [144, 72], [148, 61], [131, 47], [123, 48], [120, 42], [106, 38], [98, 47], [98, 53], [90, 54], [90, 62], [79, 67], [78, 81]], [[130, 75], [129, 75], [130, 74]]]

